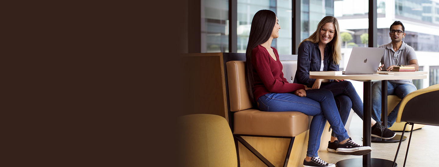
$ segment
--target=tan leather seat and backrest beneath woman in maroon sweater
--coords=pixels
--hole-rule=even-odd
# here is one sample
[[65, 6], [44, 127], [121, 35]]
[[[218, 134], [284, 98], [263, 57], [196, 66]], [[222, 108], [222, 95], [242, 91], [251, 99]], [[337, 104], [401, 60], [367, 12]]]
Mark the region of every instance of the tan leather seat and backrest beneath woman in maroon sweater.
[[234, 112], [234, 134], [294, 137], [307, 131], [308, 115], [297, 111], [265, 112], [252, 108], [245, 85], [245, 62], [229, 61], [230, 111]]

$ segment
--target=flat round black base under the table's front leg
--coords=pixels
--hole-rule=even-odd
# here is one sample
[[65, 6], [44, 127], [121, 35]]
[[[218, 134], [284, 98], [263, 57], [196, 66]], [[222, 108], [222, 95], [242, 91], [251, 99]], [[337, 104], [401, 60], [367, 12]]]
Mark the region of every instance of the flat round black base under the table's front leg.
[[[338, 161], [335, 165], [337, 167], [392, 167], [393, 161], [379, 158], [371, 158], [371, 165], [363, 165], [363, 158], [353, 158]], [[397, 167], [398, 164], [395, 163]]]

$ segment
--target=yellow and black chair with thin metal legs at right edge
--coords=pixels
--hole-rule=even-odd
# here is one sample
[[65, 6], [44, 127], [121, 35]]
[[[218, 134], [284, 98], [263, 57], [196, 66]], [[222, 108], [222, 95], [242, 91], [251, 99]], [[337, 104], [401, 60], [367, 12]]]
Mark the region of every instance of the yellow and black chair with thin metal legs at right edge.
[[[427, 124], [439, 126], [439, 112], [438, 112], [438, 100], [439, 96], [439, 84], [431, 85], [425, 89], [419, 89], [409, 93], [401, 101], [401, 105], [398, 110], [398, 116], [396, 122], [407, 122], [407, 124]], [[403, 134], [406, 126], [403, 128]], [[407, 154], [409, 151], [410, 140], [412, 137], [413, 126], [410, 130], [409, 142], [407, 144], [406, 158], [404, 159], [404, 167], [406, 166]], [[399, 140], [399, 146], [396, 150], [395, 160], [398, 156], [399, 147], [401, 146], [401, 140]], [[433, 148], [432, 148], [433, 149]]]

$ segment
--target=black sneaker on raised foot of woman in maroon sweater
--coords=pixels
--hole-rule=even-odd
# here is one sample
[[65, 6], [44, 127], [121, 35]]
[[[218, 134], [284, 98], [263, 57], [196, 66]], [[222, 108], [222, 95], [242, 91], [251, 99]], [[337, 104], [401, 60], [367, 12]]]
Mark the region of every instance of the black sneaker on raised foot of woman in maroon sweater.
[[354, 142], [351, 138], [345, 143], [338, 143], [338, 148], [336, 152], [340, 155], [356, 155], [362, 156], [371, 153], [372, 148], [370, 146], [360, 146]]

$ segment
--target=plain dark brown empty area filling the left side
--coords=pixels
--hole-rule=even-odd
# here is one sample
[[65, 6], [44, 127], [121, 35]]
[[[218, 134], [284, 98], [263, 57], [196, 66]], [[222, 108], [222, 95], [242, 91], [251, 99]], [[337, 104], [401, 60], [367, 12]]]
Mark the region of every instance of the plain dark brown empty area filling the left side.
[[177, 166], [187, 1], [4, 4], [5, 166]]

